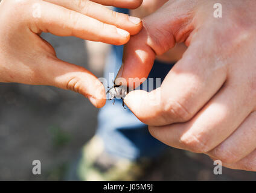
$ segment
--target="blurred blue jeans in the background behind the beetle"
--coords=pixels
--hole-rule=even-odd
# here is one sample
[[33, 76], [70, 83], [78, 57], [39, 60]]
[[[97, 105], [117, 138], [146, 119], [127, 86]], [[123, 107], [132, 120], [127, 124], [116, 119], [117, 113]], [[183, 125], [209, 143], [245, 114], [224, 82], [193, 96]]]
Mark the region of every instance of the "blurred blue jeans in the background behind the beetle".
[[[127, 10], [120, 8], [117, 11], [127, 13]], [[117, 75], [122, 58], [123, 46], [112, 46], [104, 71], [104, 78], [108, 81], [109, 73]], [[149, 78], [164, 80], [172, 66], [173, 64], [155, 61]], [[122, 100], [116, 100], [115, 105], [112, 103], [113, 101], [107, 101], [106, 106], [98, 114], [97, 136], [103, 139], [106, 151], [130, 160], [141, 157], [157, 157], [161, 154], [166, 145], [150, 135], [147, 125], [139, 121], [129, 109], [124, 109]]]

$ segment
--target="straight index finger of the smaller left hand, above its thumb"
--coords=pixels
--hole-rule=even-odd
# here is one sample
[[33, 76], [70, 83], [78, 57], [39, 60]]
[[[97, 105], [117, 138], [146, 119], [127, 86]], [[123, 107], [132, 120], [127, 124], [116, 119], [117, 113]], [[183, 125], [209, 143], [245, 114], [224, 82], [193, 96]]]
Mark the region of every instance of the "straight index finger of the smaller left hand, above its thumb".
[[34, 33], [50, 32], [56, 36], [75, 36], [114, 45], [123, 45], [130, 39], [125, 30], [65, 7], [40, 1], [37, 8], [40, 17], [34, 17], [34, 24], [30, 25]]

